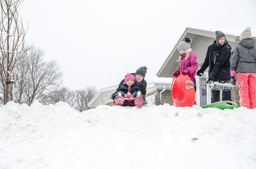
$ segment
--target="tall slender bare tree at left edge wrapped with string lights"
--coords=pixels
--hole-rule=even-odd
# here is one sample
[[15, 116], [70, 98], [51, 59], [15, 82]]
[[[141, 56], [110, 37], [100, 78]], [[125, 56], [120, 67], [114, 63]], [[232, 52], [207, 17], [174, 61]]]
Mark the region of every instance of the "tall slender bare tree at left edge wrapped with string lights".
[[[3, 86], [4, 104], [9, 101], [9, 85], [5, 79], [10, 78], [16, 62], [22, 58], [24, 53], [24, 37], [27, 30], [23, 27], [22, 18], [19, 16], [18, 8], [23, 0], [1, 0], [0, 20], [0, 82]], [[0, 98], [1, 99], [1, 98]]]

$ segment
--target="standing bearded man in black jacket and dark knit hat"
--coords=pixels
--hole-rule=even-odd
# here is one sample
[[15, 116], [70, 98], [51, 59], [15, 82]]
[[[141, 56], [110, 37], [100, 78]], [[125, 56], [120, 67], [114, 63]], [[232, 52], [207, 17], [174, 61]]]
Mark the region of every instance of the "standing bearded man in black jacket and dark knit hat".
[[[228, 45], [228, 40], [226, 36], [221, 31], [215, 31], [216, 40], [207, 49], [206, 57], [204, 63], [200, 70], [197, 71], [196, 75], [201, 76], [200, 73], [204, 71], [209, 66], [209, 79], [206, 83], [210, 81], [218, 81], [220, 83], [230, 82], [230, 55], [231, 46]], [[231, 101], [231, 91], [222, 91], [222, 101]], [[220, 91], [212, 90], [212, 101], [211, 103], [220, 101]]]

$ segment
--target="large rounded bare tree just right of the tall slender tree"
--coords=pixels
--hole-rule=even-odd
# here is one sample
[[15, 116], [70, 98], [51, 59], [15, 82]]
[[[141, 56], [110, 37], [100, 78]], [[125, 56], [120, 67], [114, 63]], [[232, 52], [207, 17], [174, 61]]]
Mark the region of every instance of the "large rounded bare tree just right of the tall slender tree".
[[50, 93], [61, 85], [63, 71], [56, 60], [44, 61], [44, 51], [32, 47], [28, 56], [24, 58], [28, 67], [25, 94], [27, 103], [31, 104], [34, 99], [42, 99], [45, 93]]

